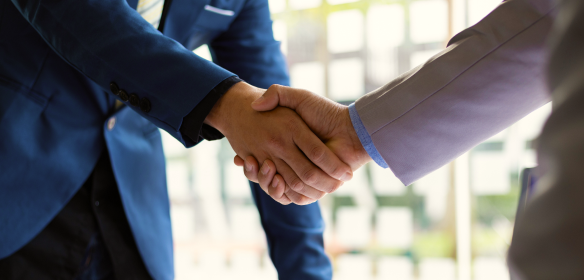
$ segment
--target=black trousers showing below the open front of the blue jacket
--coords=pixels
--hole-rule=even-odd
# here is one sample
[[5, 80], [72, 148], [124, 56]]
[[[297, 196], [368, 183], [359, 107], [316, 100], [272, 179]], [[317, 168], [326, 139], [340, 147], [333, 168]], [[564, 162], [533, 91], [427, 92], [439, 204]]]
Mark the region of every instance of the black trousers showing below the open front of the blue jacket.
[[122, 208], [104, 152], [63, 210], [31, 242], [0, 260], [2, 279], [152, 279]]

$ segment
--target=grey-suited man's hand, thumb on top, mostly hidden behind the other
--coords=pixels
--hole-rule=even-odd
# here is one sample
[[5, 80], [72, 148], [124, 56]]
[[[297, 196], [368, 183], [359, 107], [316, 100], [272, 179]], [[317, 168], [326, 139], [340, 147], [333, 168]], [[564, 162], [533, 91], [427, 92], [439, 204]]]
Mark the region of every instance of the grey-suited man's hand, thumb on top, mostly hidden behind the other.
[[[252, 108], [257, 111], [269, 111], [278, 105], [294, 109], [316, 136], [325, 142], [326, 146], [340, 160], [349, 164], [352, 170], [356, 170], [371, 161], [371, 157], [361, 145], [361, 141], [353, 128], [347, 106], [306, 90], [273, 85], [262, 97], [252, 103]], [[234, 159], [235, 164], [248, 166], [249, 168], [244, 170], [246, 177], [252, 181], [259, 182], [263, 189], [268, 189], [270, 196], [276, 201], [279, 201], [284, 195], [287, 197], [298, 194], [306, 195], [304, 190], [292, 186], [286, 187], [282, 191], [282, 178], [272, 172], [273, 162], [270, 162], [270, 160], [262, 161], [262, 169], [259, 169], [255, 158], [251, 156], [245, 157], [245, 160], [243, 158], [236, 156]], [[258, 170], [264, 170], [264, 168], [270, 172], [258, 172]], [[269, 185], [276, 187], [268, 188], [267, 186]], [[330, 193], [328, 191], [325, 192]]]

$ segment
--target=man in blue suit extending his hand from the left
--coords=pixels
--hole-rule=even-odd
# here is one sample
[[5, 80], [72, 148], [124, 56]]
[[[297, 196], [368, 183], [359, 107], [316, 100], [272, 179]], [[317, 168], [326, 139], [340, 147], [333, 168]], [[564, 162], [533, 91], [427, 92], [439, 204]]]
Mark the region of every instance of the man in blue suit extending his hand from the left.
[[[350, 178], [293, 111], [244, 106], [289, 82], [266, 0], [140, 1], [0, 0], [0, 278], [172, 279], [158, 128], [292, 189]], [[251, 186], [280, 279], [330, 278], [318, 205]]]

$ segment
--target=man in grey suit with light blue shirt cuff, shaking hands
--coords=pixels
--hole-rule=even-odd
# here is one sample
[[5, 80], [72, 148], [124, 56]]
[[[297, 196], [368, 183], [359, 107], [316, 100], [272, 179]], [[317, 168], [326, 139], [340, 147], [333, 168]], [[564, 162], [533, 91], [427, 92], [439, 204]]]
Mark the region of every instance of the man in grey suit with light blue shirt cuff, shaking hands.
[[[373, 159], [407, 185], [551, 97], [538, 194], [516, 224], [509, 263], [518, 279], [584, 279], [584, 1], [558, 5], [559, 13], [550, 0], [506, 1], [424, 65], [349, 107], [280, 86], [253, 107], [295, 109], [352, 168]], [[284, 186], [275, 168], [263, 172], [270, 161], [245, 164], [275, 199], [312, 191]]]

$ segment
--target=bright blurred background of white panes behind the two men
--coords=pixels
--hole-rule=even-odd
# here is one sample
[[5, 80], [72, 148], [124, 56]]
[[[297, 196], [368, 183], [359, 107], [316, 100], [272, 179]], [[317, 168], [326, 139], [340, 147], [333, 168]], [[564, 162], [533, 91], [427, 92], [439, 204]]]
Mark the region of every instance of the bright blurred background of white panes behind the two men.
[[[270, 0], [292, 86], [350, 102], [423, 63], [500, 0]], [[203, 46], [195, 51], [210, 59]], [[374, 163], [320, 201], [334, 279], [507, 280], [520, 185], [544, 106], [410, 186]], [[229, 143], [163, 132], [176, 278], [277, 279]]]

